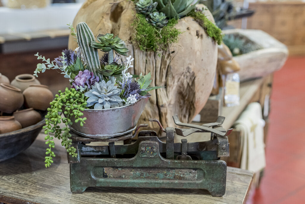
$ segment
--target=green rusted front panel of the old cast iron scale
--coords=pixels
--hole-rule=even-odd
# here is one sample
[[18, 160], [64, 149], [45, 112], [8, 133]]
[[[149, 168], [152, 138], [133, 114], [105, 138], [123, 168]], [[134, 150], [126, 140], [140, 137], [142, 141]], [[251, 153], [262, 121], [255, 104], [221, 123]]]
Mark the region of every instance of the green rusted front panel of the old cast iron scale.
[[[146, 150], [148, 146], [156, 148], [156, 155], [148, 151], [143, 156], [141, 149]], [[137, 155], [130, 159], [81, 158], [80, 163], [71, 163], [70, 187], [74, 193], [81, 193], [89, 186], [200, 188], [208, 190], [213, 196], [222, 196], [225, 193], [226, 169], [222, 160], [165, 159], [159, 153], [157, 142], [142, 141]]]

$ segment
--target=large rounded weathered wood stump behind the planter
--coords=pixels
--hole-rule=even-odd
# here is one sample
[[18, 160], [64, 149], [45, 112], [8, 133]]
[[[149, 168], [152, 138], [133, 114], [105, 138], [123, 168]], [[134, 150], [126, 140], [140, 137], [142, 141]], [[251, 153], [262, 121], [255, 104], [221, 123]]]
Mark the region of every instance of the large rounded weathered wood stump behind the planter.
[[[210, 12], [205, 12], [214, 22]], [[182, 122], [191, 122], [205, 105], [213, 87], [217, 43], [192, 17], [184, 17], [175, 26], [182, 32], [177, 43], [166, 51], [142, 51], [131, 42], [134, 15], [135, 5], [131, 1], [87, 0], [77, 13], [73, 26], [84, 21], [95, 36], [119, 35], [130, 50], [128, 56], [135, 58], [133, 70], [129, 71], [137, 75], [151, 72], [151, 85], [164, 86], [150, 92], [152, 96], [139, 123], [148, 123], [150, 128], [159, 131], [156, 123], [148, 122], [149, 118], [159, 119], [165, 127], [175, 126], [172, 119], [175, 114]], [[69, 48], [76, 47], [77, 43], [70, 37]]]

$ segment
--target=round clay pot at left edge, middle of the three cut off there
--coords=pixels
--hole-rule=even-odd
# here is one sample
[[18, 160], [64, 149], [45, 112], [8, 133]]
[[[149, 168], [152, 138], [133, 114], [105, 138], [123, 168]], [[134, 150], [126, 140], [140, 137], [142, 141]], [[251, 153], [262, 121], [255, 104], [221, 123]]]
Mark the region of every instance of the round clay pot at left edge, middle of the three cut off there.
[[21, 90], [9, 84], [0, 84], [0, 111], [13, 113], [19, 109], [24, 102]]

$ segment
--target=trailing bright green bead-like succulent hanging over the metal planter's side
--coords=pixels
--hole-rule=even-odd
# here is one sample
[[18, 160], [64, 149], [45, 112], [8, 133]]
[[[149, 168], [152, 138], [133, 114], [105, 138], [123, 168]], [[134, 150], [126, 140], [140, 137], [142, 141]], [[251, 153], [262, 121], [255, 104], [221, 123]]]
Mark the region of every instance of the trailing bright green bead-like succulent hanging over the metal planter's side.
[[[69, 155], [76, 157], [76, 149], [71, 147], [72, 140], [71, 133], [69, 133], [69, 125], [72, 125], [72, 117], [74, 117], [74, 122], [80, 122], [80, 126], [84, 125], [84, 121], [87, 118], [81, 118], [84, 114], [81, 111], [84, 111], [87, 105], [88, 97], [85, 97], [84, 93], [81, 93], [74, 88], [66, 88], [64, 92], [58, 91], [59, 95], [55, 95], [55, 99], [50, 103], [51, 107], [48, 108], [48, 113], [45, 116], [45, 144], [49, 145], [45, 154], [48, 155], [45, 157], [45, 167], [48, 167], [53, 163], [53, 158], [56, 156], [51, 148], [54, 148], [54, 140], [51, 137], [50, 133], [54, 133], [54, 137], [57, 137], [59, 140], [62, 140], [61, 145], [63, 145]], [[64, 114], [66, 117], [62, 117], [60, 114], [63, 112], [62, 107], [65, 107]], [[63, 122], [66, 127], [60, 128], [59, 124]], [[62, 133], [63, 132], [63, 133]]]

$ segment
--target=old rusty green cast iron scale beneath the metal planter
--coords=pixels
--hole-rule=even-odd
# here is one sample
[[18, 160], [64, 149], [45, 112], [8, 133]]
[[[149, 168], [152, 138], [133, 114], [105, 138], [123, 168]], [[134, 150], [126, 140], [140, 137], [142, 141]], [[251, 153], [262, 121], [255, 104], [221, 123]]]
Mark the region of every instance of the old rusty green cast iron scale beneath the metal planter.
[[[166, 143], [159, 140], [155, 131], [140, 131], [133, 143], [131, 138], [137, 131], [109, 139], [71, 132], [72, 146], [78, 154], [76, 158], [68, 154], [71, 191], [82, 193], [89, 186], [195, 188], [206, 189], [212, 196], [224, 195], [227, 165], [219, 158], [229, 156], [227, 136], [232, 129], [222, 128], [224, 117], [221, 116], [216, 122], [202, 126], [181, 123], [177, 115], [173, 118], [175, 124], [189, 128], [164, 129], [158, 120], [150, 119], [166, 133]], [[182, 139], [181, 143], [174, 143], [174, 133], [186, 137], [195, 132], [210, 132], [211, 139], [192, 143]], [[120, 140], [124, 140], [124, 145], [114, 145]], [[96, 141], [109, 145], [86, 145]]]

